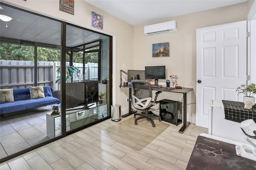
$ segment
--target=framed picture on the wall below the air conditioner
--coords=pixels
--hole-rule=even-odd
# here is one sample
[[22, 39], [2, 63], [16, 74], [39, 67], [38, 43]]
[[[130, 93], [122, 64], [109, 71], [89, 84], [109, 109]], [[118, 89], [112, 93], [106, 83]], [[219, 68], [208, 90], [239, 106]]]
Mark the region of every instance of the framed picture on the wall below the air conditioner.
[[170, 43], [152, 44], [152, 57], [170, 57]]

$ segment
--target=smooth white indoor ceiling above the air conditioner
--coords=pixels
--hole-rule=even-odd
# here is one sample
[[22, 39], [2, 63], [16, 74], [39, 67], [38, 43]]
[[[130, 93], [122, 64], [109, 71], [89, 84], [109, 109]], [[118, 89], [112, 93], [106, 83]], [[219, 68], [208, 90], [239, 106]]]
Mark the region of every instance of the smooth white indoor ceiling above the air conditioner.
[[[246, 2], [247, 0], [84, 0], [131, 25]], [[94, 11], [96, 12], [96, 11]], [[96, 12], [97, 13], [97, 12]]]

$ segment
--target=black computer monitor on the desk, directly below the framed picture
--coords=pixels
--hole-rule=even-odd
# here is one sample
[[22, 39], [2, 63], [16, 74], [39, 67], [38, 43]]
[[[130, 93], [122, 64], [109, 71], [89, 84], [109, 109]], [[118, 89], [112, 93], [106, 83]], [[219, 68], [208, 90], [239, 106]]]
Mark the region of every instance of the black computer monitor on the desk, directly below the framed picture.
[[145, 66], [145, 78], [155, 79], [155, 86], [158, 86], [158, 79], [166, 79], [165, 66]]

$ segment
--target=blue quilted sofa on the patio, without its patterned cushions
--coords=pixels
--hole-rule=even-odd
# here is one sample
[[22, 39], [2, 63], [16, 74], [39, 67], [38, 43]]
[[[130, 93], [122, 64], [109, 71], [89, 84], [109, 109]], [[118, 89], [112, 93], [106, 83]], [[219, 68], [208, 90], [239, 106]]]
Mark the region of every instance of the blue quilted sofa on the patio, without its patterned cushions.
[[0, 114], [23, 111], [51, 104], [60, 104], [60, 100], [52, 96], [53, 88], [44, 86], [45, 98], [30, 99], [29, 88], [13, 89], [14, 102], [1, 103]]

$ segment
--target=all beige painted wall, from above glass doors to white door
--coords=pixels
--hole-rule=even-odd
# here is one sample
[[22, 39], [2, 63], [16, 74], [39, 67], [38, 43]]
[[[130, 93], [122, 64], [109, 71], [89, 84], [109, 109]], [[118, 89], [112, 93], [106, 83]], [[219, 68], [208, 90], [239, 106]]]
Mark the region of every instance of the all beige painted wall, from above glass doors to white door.
[[[52, 18], [74, 23], [82, 27], [90, 27], [91, 12], [94, 11], [104, 16], [104, 33], [114, 36], [113, 44], [113, 104], [121, 104], [122, 114], [128, 111], [127, 88], [119, 88], [119, 70], [141, 69], [150, 65], [166, 65], [167, 76], [177, 74], [180, 86], [194, 88], [188, 96], [188, 103], [195, 103], [196, 90], [196, 29], [246, 20], [246, 16], [252, 4], [248, 1], [241, 4], [187, 14], [168, 20], [161, 20], [145, 25], [176, 20], [178, 33], [146, 37], [144, 25], [132, 26], [110, 14], [92, 6], [83, 0], [75, 0], [74, 16], [59, 11], [59, 0], [2, 0], [2, 2], [22, 7], [33, 12], [44, 14]], [[47, 2], [47, 3], [46, 3]], [[170, 55], [168, 58], [152, 58], [152, 44], [170, 42]], [[123, 64], [125, 68], [123, 69]], [[124, 75], [125, 76], [125, 75]], [[165, 80], [160, 80], [164, 83]], [[161, 94], [162, 98], [182, 100], [182, 96]], [[176, 97], [177, 96], [177, 97]], [[195, 118], [195, 104], [188, 105], [189, 117]], [[193, 121], [192, 121], [193, 122]]]

